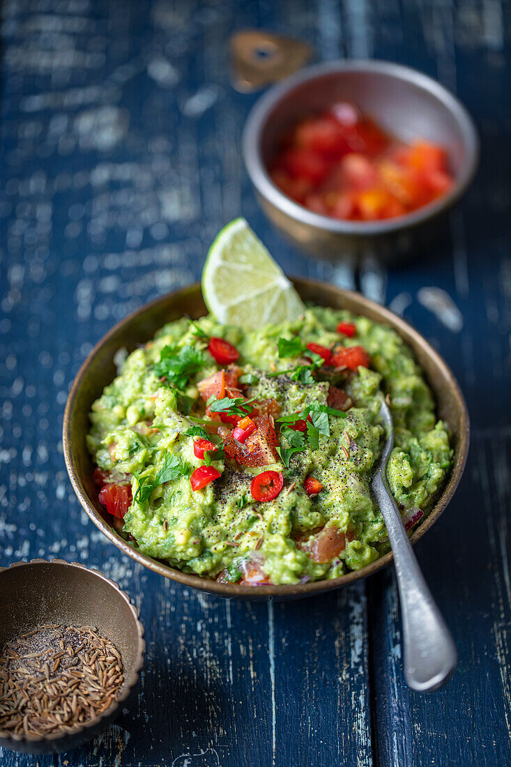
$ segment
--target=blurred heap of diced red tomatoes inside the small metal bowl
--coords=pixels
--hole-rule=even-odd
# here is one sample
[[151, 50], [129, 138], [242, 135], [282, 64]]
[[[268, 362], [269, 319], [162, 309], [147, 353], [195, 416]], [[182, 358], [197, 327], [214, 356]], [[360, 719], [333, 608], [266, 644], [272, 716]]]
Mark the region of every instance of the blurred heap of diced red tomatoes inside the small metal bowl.
[[447, 159], [442, 146], [406, 144], [341, 102], [292, 127], [269, 170], [283, 193], [321, 216], [377, 221], [447, 193]]

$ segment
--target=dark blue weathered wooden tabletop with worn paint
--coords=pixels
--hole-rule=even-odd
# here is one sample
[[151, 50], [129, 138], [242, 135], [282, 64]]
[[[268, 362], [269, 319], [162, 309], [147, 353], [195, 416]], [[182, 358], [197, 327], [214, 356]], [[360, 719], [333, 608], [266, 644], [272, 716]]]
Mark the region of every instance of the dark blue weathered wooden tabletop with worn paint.
[[[256, 96], [229, 84], [226, 41], [268, 28], [318, 58], [400, 61], [457, 92], [480, 173], [427, 260], [358, 274], [310, 261], [259, 211], [239, 137]], [[147, 632], [143, 676], [89, 746], [2, 767], [387, 767], [511, 763], [511, 4], [499, 0], [6, 0], [0, 147], [0, 554], [100, 568]], [[394, 574], [315, 600], [197, 594], [117, 551], [64, 469], [68, 388], [92, 345], [150, 298], [199, 278], [245, 215], [286, 271], [358, 287], [452, 366], [473, 423], [470, 460], [417, 556], [460, 665], [430, 696], [401, 666]], [[459, 309], [428, 306], [441, 288]], [[463, 324], [463, 327], [461, 325]]]

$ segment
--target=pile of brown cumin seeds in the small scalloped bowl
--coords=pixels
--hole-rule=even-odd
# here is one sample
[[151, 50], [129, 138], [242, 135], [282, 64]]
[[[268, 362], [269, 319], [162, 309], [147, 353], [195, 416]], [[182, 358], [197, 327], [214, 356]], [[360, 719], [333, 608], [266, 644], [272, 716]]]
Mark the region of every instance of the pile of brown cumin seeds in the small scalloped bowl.
[[117, 647], [92, 626], [39, 626], [0, 650], [0, 732], [72, 732], [117, 700]]

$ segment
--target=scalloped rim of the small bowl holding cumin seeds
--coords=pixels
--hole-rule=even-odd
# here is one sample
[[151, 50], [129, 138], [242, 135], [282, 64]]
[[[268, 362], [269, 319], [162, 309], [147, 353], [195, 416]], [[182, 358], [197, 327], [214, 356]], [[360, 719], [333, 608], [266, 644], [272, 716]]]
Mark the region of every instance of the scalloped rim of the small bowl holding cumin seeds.
[[101, 714], [98, 714], [97, 716], [94, 716], [94, 719], [89, 719], [87, 722], [83, 723], [80, 726], [77, 726], [75, 729], [73, 729], [73, 732], [64, 732], [58, 733], [54, 732], [51, 735], [43, 735], [43, 736], [33, 736], [33, 735], [15, 735], [12, 732], [7, 732], [5, 730], [0, 729], [0, 739], [3, 739], [5, 742], [8, 742], [9, 740], [12, 740], [13, 742], [13, 749], [15, 749], [16, 744], [20, 743], [27, 743], [27, 744], [36, 744], [36, 743], [58, 743], [61, 740], [66, 739], [74, 739], [79, 738], [81, 734], [86, 731], [87, 729], [94, 728], [99, 723], [101, 723], [102, 719], [106, 719], [111, 717], [114, 712], [119, 708], [121, 703], [124, 703], [124, 700], [127, 700], [127, 697], [130, 695], [131, 691], [134, 689], [134, 686], [136, 686], [139, 677], [140, 677], [140, 669], [142, 668], [143, 664], [143, 657], [146, 650], [146, 642], [143, 638], [143, 624], [142, 621], [140, 621], [140, 617], [138, 614], [137, 607], [133, 604], [133, 602], [130, 599], [129, 594], [126, 593], [126, 591], [123, 591], [122, 588], [120, 588], [119, 584], [117, 584], [115, 581], [112, 581], [111, 578], [107, 578], [107, 576], [102, 573], [101, 571], [97, 570], [96, 568], [87, 568], [86, 565], [83, 565], [81, 562], [68, 562], [65, 559], [30, 559], [28, 561], [17, 561], [12, 562], [12, 565], [8, 565], [6, 567], [0, 567], [0, 577], [5, 571], [13, 570], [15, 568], [23, 568], [27, 565], [66, 565], [70, 568], [79, 568], [81, 570], [86, 570], [87, 572], [90, 572], [94, 574], [95, 577], [101, 578], [102, 581], [105, 581], [107, 584], [112, 586], [115, 591], [117, 591], [120, 595], [120, 597], [124, 600], [124, 602], [127, 604], [127, 606], [130, 608], [130, 612], [134, 617], [135, 625], [137, 626], [137, 653], [135, 655], [135, 662], [134, 667], [130, 672], [130, 676], [127, 679], [125, 689], [123, 693], [117, 698], [117, 700], [114, 700], [113, 703], [111, 703], [110, 706]]

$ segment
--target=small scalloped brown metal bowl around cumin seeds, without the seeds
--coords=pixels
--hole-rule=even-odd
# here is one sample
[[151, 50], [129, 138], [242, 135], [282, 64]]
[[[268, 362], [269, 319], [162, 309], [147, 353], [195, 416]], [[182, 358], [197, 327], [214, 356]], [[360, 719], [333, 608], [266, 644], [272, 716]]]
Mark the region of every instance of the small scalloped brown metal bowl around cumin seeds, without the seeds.
[[137, 684], [145, 642], [137, 608], [114, 581], [97, 570], [63, 559], [32, 559], [0, 568], [0, 647], [42, 624], [96, 626], [120, 652], [124, 682], [117, 700], [74, 732], [17, 736], [0, 730], [0, 746], [28, 754], [61, 753], [81, 746], [120, 713]]

